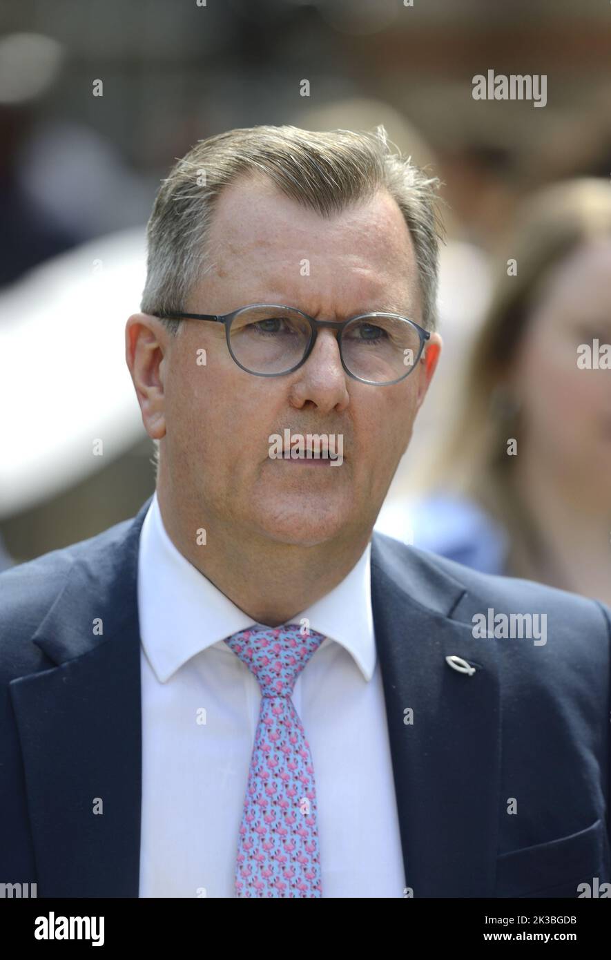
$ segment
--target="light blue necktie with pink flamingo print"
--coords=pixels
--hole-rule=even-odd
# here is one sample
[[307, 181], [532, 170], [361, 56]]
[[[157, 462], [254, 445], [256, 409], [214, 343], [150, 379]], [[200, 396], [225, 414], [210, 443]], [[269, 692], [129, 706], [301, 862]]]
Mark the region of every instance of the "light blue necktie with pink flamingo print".
[[324, 636], [294, 623], [225, 639], [261, 687], [236, 862], [236, 897], [321, 897], [310, 745], [291, 696]]

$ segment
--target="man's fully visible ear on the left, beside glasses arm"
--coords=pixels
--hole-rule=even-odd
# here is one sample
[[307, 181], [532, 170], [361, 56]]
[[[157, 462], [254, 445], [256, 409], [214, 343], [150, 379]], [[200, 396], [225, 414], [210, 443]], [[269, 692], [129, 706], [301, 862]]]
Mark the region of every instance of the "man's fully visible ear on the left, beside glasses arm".
[[157, 317], [134, 313], [125, 329], [126, 363], [142, 414], [153, 440], [165, 436], [164, 360], [169, 332]]

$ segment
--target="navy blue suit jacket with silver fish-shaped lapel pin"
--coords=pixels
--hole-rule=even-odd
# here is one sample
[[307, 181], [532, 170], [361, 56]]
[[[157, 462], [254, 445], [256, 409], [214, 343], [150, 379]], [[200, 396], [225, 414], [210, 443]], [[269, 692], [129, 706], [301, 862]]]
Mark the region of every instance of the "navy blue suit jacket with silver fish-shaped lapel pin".
[[[0, 883], [35, 882], [38, 897], [138, 896], [149, 503], [0, 575]], [[608, 882], [611, 610], [377, 533], [371, 588], [413, 896], [577, 897]], [[473, 636], [489, 608], [546, 613], [547, 643]]]

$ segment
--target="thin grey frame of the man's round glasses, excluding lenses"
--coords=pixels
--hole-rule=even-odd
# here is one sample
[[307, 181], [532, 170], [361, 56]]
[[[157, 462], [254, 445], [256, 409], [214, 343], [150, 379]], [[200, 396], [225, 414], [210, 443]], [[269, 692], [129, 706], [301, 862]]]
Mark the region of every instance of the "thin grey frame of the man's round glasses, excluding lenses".
[[[280, 373], [258, 373], [253, 370], [248, 370], [247, 367], [243, 366], [240, 361], [235, 356], [233, 350], [231, 349], [231, 342], [229, 338], [229, 332], [231, 330], [231, 324], [233, 320], [239, 313], [242, 313], [244, 310], [249, 310], [253, 307], [273, 307], [274, 309], [280, 310], [292, 310], [294, 313], [298, 313], [304, 320], [310, 324], [310, 343], [308, 344], [305, 353], [299, 360], [299, 363], [295, 364], [294, 367], [291, 367], [290, 370], [285, 370]], [[338, 331], [338, 348], [340, 350], [340, 359], [341, 366], [348, 374], [352, 377], [353, 380], [357, 380], [359, 383], [366, 383], [371, 387], [391, 387], [395, 383], [401, 383], [402, 380], [405, 380], [406, 377], [415, 369], [420, 357], [422, 356], [422, 350], [425, 347], [425, 344], [431, 338], [431, 331], [425, 330], [423, 326], [416, 324], [415, 321], [410, 320], [409, 317], [402, 317], [399, 313], [387, 313], [382, 311], [374, 311], [373, 313], [359, 313], [354, 317], [348, 317], [347, 320], [341, 321], [332, 321], [332, 320], [316, 320], [314, 317], [310, 317], [309, 314], [304, 313], [303, 310], [299, 310], [296, 306], [289, 306], [287, 303], [247, 303], [246, 306], [239, 306], [237, 310], [232, 310], [230, 313], [223, 314], [214, 314], [214, 313], [175, 313], [174, 311], [164, 310], [160, 313], [154, 314], [155, 317], [158, 317], [160, 320], [208, 320], [212, 321], [215, 324], [224, 324], [225, 340], [227, 342], [227, 349], [231, 359], [240, 370], [243, 370], [245, 373], [250, 373], [251, 376], [286, 376], [288, 373], [294, 373], [295, 370], [299, 370], [299, 367], [302, 367], [310, 354], [312, 353], [314, 346], [317, 342], [318, 330], [322, 327], [331, 327]], [[356, 373], [348, 370], [343, 360], [343, 351], [341, 349], [341, 334], [343, 329], [348, 324], [353, 323], [355, 320], [364, 320], [365, 317], [394, 317], [398, 320], [404, 321], [406, 324], [411, 324], [415, 327], [418, 337], [420, 339], [420, 346], [418, 348], [418, 354], [413, 361], [413, 364], [409, 368], [408, 372], [404, 373], [403, 376], [398, 377], [396, 380], [388, 380], [383, 383], [379, 383], [377, 380], [365, 380], [362, 376], [357, 376]], [[274, 318], [275, 319], [275, 318]]]

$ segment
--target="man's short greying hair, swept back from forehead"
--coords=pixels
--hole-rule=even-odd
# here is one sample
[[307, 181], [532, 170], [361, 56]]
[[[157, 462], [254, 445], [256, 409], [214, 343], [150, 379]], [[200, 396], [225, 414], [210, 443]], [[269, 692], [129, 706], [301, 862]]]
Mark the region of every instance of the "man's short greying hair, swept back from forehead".
[[[422, 297], [422, 320], [436, 327], [440, 185], [402, 156], [383, 125], [375, 132], [313, 132], [248, 127], [200, 140], [163, 180], [147, 228], [147, 280], [141, 310], [181, 313], [196, 280], [211, 269], [210, 224], [223, 187], [258, 173], [287, 197], [329, 217], [387, 188], [411, 233]], [[164, 324], [176, 333], [179, 320]]]

